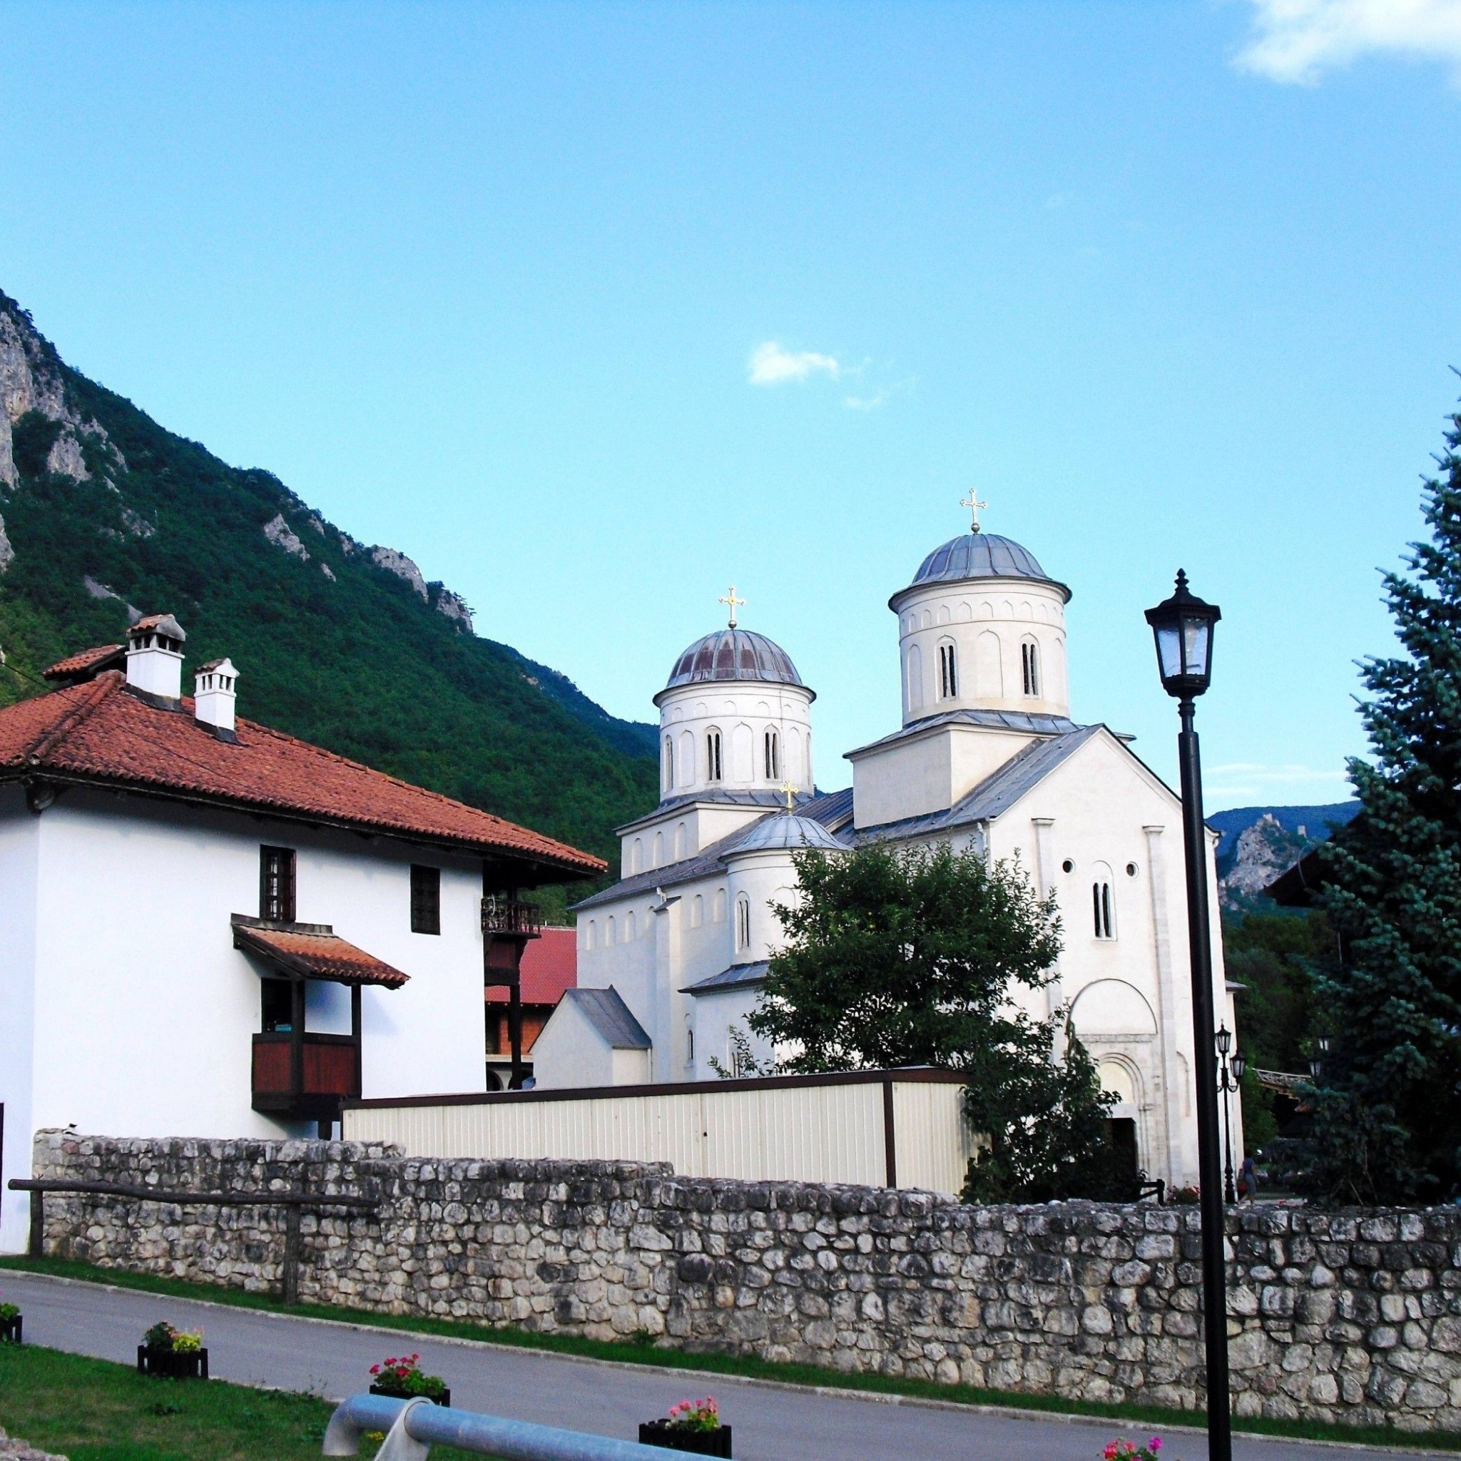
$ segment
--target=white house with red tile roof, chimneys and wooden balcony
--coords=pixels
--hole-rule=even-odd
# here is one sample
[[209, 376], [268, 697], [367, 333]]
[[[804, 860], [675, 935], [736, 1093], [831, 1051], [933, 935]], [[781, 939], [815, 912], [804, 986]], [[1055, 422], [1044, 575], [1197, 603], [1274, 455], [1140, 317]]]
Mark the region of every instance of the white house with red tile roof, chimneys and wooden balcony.
[[282, 1137], [487, 1088], [516, 890], [603, 862], [238, 719], [152, 615], [0, 710], [0, 1251], [32, 1134]]

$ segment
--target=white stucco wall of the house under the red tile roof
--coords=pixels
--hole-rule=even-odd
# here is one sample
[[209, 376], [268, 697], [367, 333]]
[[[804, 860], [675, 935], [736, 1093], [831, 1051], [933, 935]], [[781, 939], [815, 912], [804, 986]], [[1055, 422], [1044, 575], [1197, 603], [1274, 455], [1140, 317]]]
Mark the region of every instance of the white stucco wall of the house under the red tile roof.
[[[301, 922], [330, 923], [412, 976], [402, 989], [362, 993], [364, 1094], [485, 1087], [478, 861], [145, 798], [70, 790], [35, 817], [7, 796], [0, 979], [23, 989], [18, 951], [28, 929], [35, 939], [29, 1112], [12, 1119], [0, 1093], [7, 1172], [29, 1167], [38, 1126], [137, 1137], [313, 1129], [250, 1106], [259, 966], [232, 947], [229, 915], [259, 913], [262, 843], [297, 850]], [[26, 846], [29, 894], [18, 893]], [[411, 932], [412, 862], [441, 868], [440, 935]], [[23, 999], [6, 998], [0, 1039], [23, 1048], [22, 1011]], [[348, 1031], [348, 991], [311, 986], [307, 1027]], [[13, 1249], [23, 1226], [9, 1204], [4, 1214], [0, 1245]]]

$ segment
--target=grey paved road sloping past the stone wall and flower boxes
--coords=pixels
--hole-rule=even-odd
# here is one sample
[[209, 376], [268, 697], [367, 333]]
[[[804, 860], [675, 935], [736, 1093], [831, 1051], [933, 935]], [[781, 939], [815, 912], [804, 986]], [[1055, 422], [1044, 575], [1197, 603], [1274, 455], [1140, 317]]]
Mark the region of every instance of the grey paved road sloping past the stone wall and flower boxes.
[[[742, 1461], [1099, 1461], [1102, 1446], [1118, 1432], [1140, 1439], [1147, 1435], [1143, 1427], [1109, 1422], [1026, 1419], [918, 1401], [891, 1404], [468, 1340], [418, 1338], [38, 1274], [6, 1273], [4, 1292], [25, 1311], [25, 1337], [35, 1344], [133, 1363], [142, 1331], [169, 1319], [178, 1328], [203, 1330], [209, 1369], [218, 1379], [313, 1389], [332, 1400], [364, 1391], [370, 1366], [402, 1350], [419, 1350], [422, 1367], [447, 1379], [453, 1405], [627, 1439], [637, 1435], [637, 1422], [663, 1414], [684, 1395], [710, 1392], [735, 1427]], [[1365, 1448], [1248, 1436], [1235, 1441], [1233, 1454], [1237, 1461], [1376, 1457]], [[1164, 1457], [1205, 1461], [1205, 1439], [1169, 1432]]]

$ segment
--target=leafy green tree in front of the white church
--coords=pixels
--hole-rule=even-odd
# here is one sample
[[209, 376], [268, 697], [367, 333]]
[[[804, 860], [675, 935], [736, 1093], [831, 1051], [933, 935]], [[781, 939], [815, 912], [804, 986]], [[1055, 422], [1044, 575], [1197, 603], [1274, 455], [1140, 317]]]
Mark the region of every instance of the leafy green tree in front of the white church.
[[1050, 980], [1053, 899], [1018, 862], [991, 866], [947, 843], [795, 862], [799, 897], [777, 910], [786, 951], [749, 1017], [790, 1052], [780, 1068], [961, 1071], [966, 1112], [989, 1143], [970, 1167], [972, 1199], [1102, 1195], [1110, 1097], [1064, 1021], [1034, 1020], [1010, 998]]

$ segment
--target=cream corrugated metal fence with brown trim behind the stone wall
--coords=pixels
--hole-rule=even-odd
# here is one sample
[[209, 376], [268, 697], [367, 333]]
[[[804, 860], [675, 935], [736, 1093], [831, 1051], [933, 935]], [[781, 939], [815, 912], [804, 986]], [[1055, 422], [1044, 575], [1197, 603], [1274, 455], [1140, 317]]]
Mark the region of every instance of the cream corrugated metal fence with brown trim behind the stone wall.
[[678, 1175], [957, 1194], [973, 1156], [953, 1071], [351, 1102], [351, 1141], [415, 1157], [668, 1161]]

